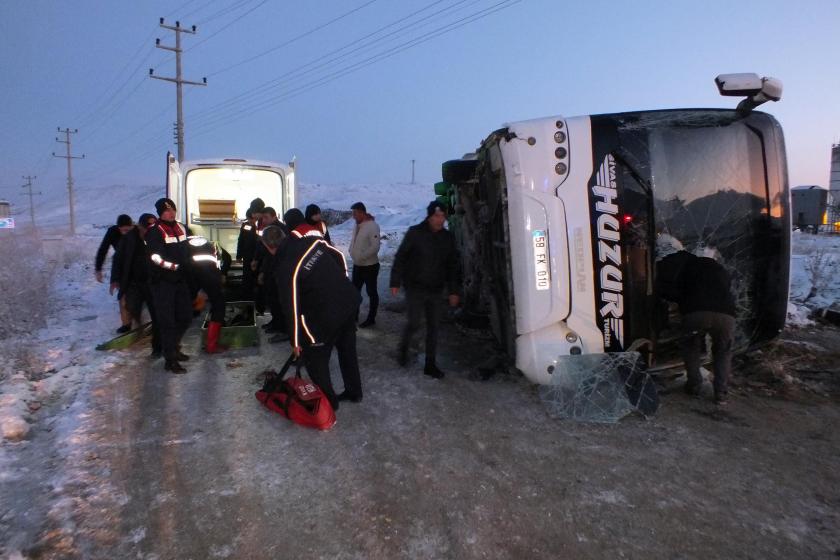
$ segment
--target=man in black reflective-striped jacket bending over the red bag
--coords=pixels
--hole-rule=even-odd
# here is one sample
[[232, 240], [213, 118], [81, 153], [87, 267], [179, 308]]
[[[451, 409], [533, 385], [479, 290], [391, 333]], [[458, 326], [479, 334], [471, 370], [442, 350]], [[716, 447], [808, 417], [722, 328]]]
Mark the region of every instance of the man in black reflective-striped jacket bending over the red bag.
[[[301, 223], [292, 229], [292, 235], [284, 242], [285, 234], [280, 228], [267, 228], [262, 242], [269, 252], [278, 255], [274, 277], [284, 296], [282, 304], [289, 318], [292, 349], [303, 357], [309, 377], [337, 409], [341, 400], [362, 400], [356, 354], [356, 313], [361, 298], [347, 278], [341, 252], [327, 243], [320, 232], [302, 223], [300, 210], [293, 210], [300, 215]], [[287, 220], [287, 224], [292, 226], [294, 221]], [[330, 378], [333, 347], [344, 380], [344, 391], [338, 396]]]

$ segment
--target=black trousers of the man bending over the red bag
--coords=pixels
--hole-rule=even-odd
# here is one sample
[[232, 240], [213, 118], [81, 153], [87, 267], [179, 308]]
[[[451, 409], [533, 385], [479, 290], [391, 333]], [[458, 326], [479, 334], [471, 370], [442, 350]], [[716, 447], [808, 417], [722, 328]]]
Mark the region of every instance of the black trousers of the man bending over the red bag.
[[330, 354], [333, 346], [338, 352], [338, 365], [341, 368], [341, 378], [344, 380], [344, 390], [351, 399], [362, 398], [362, 379], [359, 375], [359, 359], [356, 355], [356, 318], [349, 320], [338, 329], [333, 339], [322, 344], [303, 347], [303, 359], [309, 378], [321, 388], [335, 406], [336, 395], [330, 378]]

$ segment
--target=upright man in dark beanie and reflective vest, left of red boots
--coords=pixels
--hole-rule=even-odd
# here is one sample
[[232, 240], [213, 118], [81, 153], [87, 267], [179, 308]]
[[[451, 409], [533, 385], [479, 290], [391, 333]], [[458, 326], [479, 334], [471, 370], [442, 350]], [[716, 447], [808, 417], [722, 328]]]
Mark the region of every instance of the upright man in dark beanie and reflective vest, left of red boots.
[[175, 221], [175, 203], [168, 198], [155, 202], [158, 220], [146, 234], [149, 247], [149, 284], [155, 311], [160, 323], [161, 346], [166, 360], [164, 368], [172, 373], [185, 373], [179, 363], [189, 356], [180, 350], [181, 337], [192, 321], [192, 302], [187, 283], [189, 249], [187, 228]]

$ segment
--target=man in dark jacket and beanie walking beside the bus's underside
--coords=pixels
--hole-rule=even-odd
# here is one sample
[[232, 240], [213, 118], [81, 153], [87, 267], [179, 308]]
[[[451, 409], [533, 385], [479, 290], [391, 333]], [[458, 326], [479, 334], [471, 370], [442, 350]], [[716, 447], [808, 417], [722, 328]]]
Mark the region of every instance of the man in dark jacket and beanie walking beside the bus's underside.
[[440, 320], [440, 295], [447, 288], [449, 305], [457, 307], [461, 283], [455, 236], [443, 227], [446, 208], [433, 201], [426, 208], [426, 219], [409, 228], [394, 257], [391, 269], [391, 293], [397, 295], [405, 286], [408, 323], [400, 340], [398, 361], [408, 363], [411, 338], [426, 316], [426, 366], [423, 373], [435, 379], [443, 377], [437, 367], [437, 331]]

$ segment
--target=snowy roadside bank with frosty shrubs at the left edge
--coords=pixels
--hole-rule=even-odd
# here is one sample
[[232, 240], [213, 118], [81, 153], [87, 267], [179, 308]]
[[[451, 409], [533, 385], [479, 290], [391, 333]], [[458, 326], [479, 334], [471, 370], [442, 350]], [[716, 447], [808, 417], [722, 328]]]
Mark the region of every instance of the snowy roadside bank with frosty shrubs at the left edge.
[[6, 270], [14, 270], [15, 282], [4, 282], [11, 289], [0, 295], [4, 328], [15, 334], [0, 341], [0, 433], [7, 441], [25, 439], [44, 406], [102, 367], [106, 356], [92, 349], [119, 324], [116, 300], [93, 277], [98, 233], [52, 246], [25, 236], [15, 242], [15, 258], [5, 261], [14, 263]]

